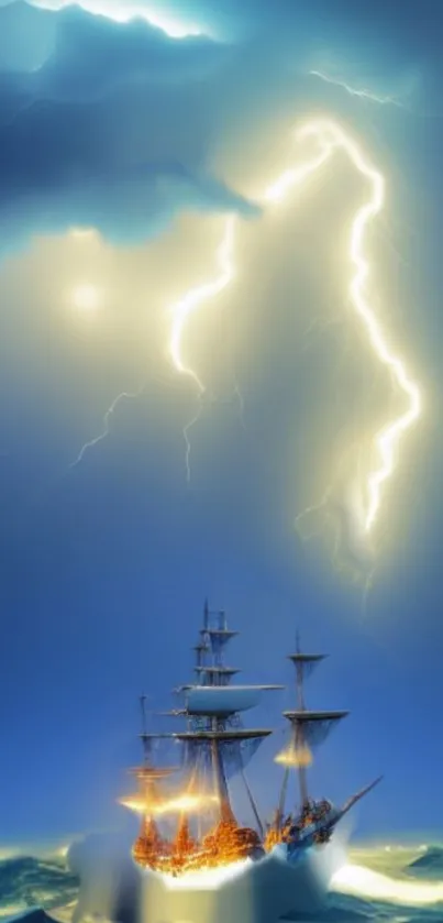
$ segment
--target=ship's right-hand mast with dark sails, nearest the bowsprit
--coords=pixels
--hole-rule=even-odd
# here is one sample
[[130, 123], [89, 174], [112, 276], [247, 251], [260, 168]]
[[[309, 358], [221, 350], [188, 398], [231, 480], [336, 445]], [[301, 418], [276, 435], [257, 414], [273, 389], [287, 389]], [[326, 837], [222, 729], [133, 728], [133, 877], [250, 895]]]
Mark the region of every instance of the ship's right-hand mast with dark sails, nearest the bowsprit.
[[[339, 721], [346, 717], [348, 712], [314, 712], [306, 707], [304, 703], [304, 680], [312, 670], [325, 659], [325, 653], [303, 653], [300, 648], [300, 638], [297, 633], [296, 652], [289, 655], [296, 668], [296, 695], [297, 706], [295, 711], [284, 712], [284, 717], [291, 725], [291, 762], [298, 770], [300, 807], [309, 801], [307, 768], [312, 762], [311, 749], [322, 744], [332, 728]], [[281, 817], [284, 801], [288, 783], [289, 766], [285, 771], [285, 779], [281, 789], [281, 798], [278, 814]]]

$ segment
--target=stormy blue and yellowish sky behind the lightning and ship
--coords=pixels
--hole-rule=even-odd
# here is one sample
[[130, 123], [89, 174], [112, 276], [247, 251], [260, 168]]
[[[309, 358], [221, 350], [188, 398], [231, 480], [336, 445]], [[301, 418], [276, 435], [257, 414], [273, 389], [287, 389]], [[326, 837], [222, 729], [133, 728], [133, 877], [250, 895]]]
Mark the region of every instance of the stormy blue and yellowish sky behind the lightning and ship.
[[[443, 9], [170, 0], [170, 37], [149, 0], [59, 6], [0, 0], [0, 839], [122, 821], [136, 696], [162, 711], [189, 679], [206, 595], [241, 631], [229, 660], [247, 681], [291, 682], [297, 628], [331, 655], [308, 703], [351, 716], [319, 754], [314, 792], [340, 802], [385, 773], [358, 834], [435, 837]], [[146, 18], [115, 21], [130, 9]], [[345, 540], [337, 567], [330, 536], [295, 527], [361, 432], [402, 406], [346, 299], [364, 185], [337, 155], [276, 220], [256, 195], [318, 114], [386, 177], [370, 294], [423, 393], [366, 595]], [[184, 338], [211, 395], [199, 408], [168, 358], [168, 306], [213, 278], [234, 211], [235, 282]], [[73, 465], [121, 392], [136, 396]], [[199, 409], [188, 483], [182, 429]], [[277, 728], [250, 768], [266, 811], [291, 701], [275, 693], [247, 715]]]

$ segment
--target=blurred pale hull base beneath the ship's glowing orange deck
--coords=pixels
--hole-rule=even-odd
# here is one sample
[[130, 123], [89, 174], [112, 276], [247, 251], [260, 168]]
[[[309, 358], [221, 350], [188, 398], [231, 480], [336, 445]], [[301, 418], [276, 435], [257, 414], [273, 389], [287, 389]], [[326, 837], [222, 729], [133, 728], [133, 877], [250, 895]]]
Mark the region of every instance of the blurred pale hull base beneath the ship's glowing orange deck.
[[335, 833], [324, 846], [300, 849], [290, 859], [277, 846], [255, 862], [177, 878], [142, 869], [124, 844], [106, 836], [77, 844], [75, 854], [69, 866], [80, 891], [74, 923], [92, 914], [120, 923], [277, 923], [322, 906], [345, 862], [345, 842]]

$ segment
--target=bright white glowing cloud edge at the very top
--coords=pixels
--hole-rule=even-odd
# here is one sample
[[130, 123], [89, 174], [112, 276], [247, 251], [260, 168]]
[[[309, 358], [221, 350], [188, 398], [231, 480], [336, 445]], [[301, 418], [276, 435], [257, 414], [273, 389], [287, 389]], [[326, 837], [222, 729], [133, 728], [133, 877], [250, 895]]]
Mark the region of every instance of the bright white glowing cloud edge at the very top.
[[87, 13], [113, 20], [121, 24], [134, 19], [144, 20], [154, 29], [159, 29], [169, 39], [190, 39], [208, 34], [198, 25], [185, 23], [179, 17], [162, 10], [164, 0], [146, 6], [141, 0], [27, 0], [32, 7], [43, 10], [63, 10], [67, 7], [80, 7]]

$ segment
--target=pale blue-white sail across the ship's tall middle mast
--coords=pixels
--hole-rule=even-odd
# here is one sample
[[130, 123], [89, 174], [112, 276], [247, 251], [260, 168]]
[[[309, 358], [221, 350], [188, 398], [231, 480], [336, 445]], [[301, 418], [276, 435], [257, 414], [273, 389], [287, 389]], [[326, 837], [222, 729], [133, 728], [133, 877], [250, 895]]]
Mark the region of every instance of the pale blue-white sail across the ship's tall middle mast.
[[189, 715], [228, 716], [254, 708], [264, 690], [281, 689], [270, 685], [193, 685], [186, 692]]

